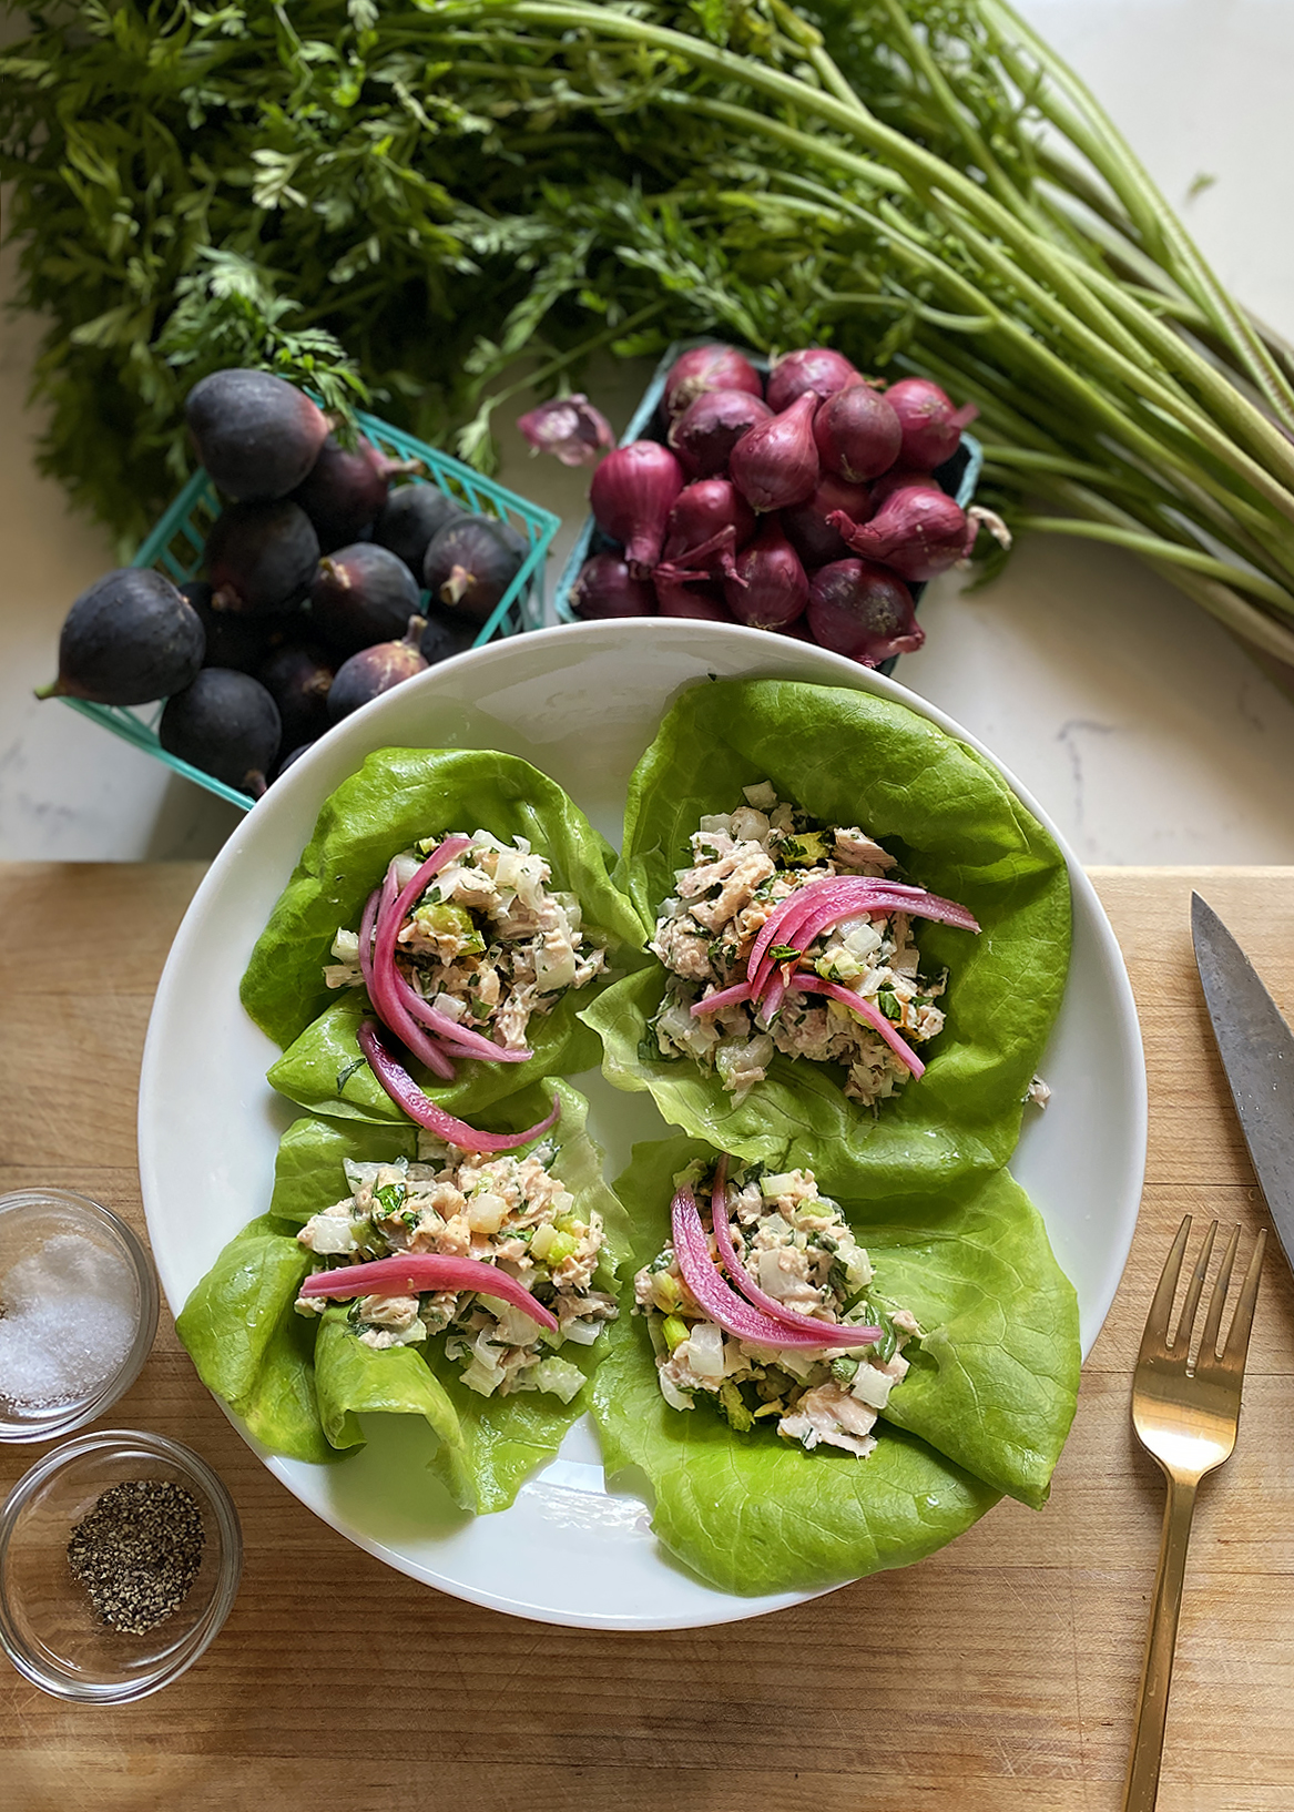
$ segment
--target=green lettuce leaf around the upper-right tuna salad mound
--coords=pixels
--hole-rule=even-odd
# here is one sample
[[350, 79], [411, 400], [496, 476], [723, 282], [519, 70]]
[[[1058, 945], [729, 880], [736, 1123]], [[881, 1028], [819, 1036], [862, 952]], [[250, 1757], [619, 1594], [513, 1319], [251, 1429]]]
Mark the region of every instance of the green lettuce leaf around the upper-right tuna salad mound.
[[999, 1169], [1057, 1017], [1069, 962], [1064, 857], [1002, 776], [971, 748], [888, 699], [785, 680], [723, 680], [676, 701], [634, 770], [613, 879], [651, 937], [689, 835], [772, 783], [825, 824], [861, 824], [899, 873], [970, 908], [980, 935], [919, 922], [922, 969], [948, 968], [942, 1033], [926, 1075], [874, 1113], [848, 1100], [834, 1064], [777, 1053], [743, 1096], [687, 1056], [661, 1058], [651, 1018], [660, 962], [625, 975], [582, 1020], [604, 1073], [649, 1089], [665, 1120], [719, 1151], [830, 1176], [837, 1194], [933, 1192]]

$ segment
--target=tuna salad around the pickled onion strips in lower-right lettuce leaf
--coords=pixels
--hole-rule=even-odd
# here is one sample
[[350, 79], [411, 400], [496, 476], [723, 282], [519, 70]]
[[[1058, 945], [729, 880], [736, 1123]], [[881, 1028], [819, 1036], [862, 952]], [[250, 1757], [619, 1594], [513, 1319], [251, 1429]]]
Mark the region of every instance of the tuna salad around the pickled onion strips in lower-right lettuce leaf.
[[[678, 1189], [707, 1203], [712, 1183], [714, 1165], [703, 1161], [676, 1178]], [[774, 1346], [725, 1332], [689, 1290], [671, 1241], [634, 1277], [634, 1314], [647, 1317], [661, 1395], [674, 1410], [703, 1402], [739, 1431], [770, 1422], [803, 1448], [866, 1459], [877, 1413], [908, 1372], [903, 1348], [921, 1328], [906, 1308], [877, 1296], [872, 1261], [839, 1207], [817, 1192], [812, 1171], [739, 1169], [727, 1183], [727, 1205], [736, 1261], [765, 1299], [825, 1330], [857, 1326], [868, 1339], [814, 1352], [803, 1334], [794, 1346]], [[703, 1225], [718, 1268], [709, 1210]]]

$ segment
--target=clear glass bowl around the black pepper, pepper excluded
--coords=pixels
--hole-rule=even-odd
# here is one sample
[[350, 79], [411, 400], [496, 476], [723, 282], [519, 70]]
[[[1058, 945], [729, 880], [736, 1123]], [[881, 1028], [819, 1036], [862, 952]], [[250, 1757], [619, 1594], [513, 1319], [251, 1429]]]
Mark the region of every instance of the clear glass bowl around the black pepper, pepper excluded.
[[[179, 1607], [145, 1636], [103, 1624], [67, 1562], [67, 1542], [123, 1480], [170, 1480], [198, 1499], [205, 1542]], [[0, 1508], [0, 1645], [54, 1698], [121, 1705], [178, 1680], [214, 1642], [243, 1571], [234, 1500], [205, 1460], [163, 1435], [101, 1430], [54, 1448]]]

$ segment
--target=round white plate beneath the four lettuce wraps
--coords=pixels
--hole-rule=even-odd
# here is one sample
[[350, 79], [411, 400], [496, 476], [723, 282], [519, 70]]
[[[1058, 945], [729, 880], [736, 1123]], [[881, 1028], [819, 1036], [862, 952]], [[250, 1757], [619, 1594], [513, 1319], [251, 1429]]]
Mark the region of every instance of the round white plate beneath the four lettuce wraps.
[[[705, 674], [875, 692], [980, 748], [904, 687], [837, 654], [758, 629], [665, 618], [497, 641], [348, 718], [225, 844], [158, 986], [140, 1080], [140, 1181], [172, 1312], [225, 1241], [270, 1200], [279, 1134], [294, 1109], [265, 1082], [275, 1047], [243, 1013], [237, 984], [326, 794], [375, 748], [502, 748], [551, 774], [618, 843], [634, 763], [678, 690]], [[1048, 823], [1028, 792], [1006, 779]], [[1029, 1116], [1011, 1169], [1042, 1210], [1075, 1283], [1086, 1354], [1136, 1221], [1145, 1071], [1118, 946], [1087, 877], [1067, 859], [1075, 942], [1044, 1062], [1053, 1098], [1046, 1114]], [[593, 1102], [589, 1131], [607, 1151], [609, 1176], [634, 1140], [669, 1131], [647, 1094], [616, 1093], [596, 1075], [575, 1082]], [[337, 1466], [286, 1460], [252, 1444], [333, 1529], [460, 1598], [549, 1624], [685, 1629], [758, 1616], [801, 1596], [734, 1598], [676, 1566], [652, 1537], [647, 1508], [605, 1491], [587, 1419], [511, 1509], [477, 1518], [430, 1480], [430, 1431], [419, 1417], [370, 1417], [366, 1433], [368, 1446]]]

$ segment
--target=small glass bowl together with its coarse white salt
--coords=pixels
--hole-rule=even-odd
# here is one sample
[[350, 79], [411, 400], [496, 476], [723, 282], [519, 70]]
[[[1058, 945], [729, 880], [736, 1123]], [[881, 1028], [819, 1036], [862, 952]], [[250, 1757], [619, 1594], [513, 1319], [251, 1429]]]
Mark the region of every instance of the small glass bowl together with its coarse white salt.
[[103, 1415], [156, 1332], [152, 1261], [111, 1209], [67, 1189], [0, 1196], [0, 1441]]

